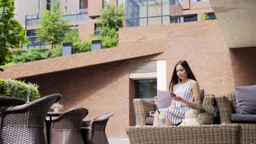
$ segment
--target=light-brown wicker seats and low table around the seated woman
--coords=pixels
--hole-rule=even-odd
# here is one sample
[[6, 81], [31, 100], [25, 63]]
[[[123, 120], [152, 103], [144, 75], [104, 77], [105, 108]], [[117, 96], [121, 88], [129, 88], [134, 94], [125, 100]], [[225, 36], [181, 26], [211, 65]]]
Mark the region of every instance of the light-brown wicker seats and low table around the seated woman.
[[[148, 126], [146, 118], [156, 111], [155, 103], [134, 99], [137, 126], [127, 127], [131, 144], [254, 144], [256, 123], [253, 120], [233, 121], [236, 113], [234, 92], [226, 95], [204, 95], [203, 105], [217, 106], [219, 116], [211, 125], [199, 126]], [[237, 114], [239, 115], [239, 114]]]

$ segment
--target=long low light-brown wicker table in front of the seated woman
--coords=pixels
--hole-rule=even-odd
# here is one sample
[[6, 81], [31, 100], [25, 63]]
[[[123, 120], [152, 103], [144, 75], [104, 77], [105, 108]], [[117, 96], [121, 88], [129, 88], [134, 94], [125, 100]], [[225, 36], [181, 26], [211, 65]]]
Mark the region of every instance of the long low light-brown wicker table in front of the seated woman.
[[240, 144], [239, 124], [127, 127], [130, 144]]

